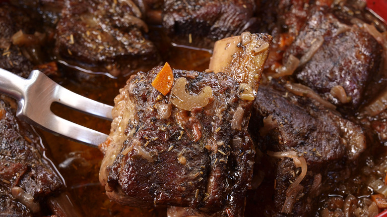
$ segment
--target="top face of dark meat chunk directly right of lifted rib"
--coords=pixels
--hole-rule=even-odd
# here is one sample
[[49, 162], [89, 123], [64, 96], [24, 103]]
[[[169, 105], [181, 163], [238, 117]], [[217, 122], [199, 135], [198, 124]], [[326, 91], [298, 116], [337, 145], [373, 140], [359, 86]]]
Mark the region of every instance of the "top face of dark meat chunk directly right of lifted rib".
[[[317, 103], [318, 106], [308, 102], [310, 99], [290, 93], [286, 98], [283, 96], [285, 93], [273, 88], [261, 87], [254, 104], [256, 116], [253, 120], [267, 123], [269, 127], [264, 125], [259, 132], [265, 140], [262, 145], [269, 150], [278, 152], [295, 148], [300, 153], [308, 153], [305, 156], [308, 163], [323, 163], [344, 156], [356, 159], [365, 149], [362, 129], [356, 124]], [[360, 141], [357, 136], [345, 133], [348, 129], [358, 132]]]

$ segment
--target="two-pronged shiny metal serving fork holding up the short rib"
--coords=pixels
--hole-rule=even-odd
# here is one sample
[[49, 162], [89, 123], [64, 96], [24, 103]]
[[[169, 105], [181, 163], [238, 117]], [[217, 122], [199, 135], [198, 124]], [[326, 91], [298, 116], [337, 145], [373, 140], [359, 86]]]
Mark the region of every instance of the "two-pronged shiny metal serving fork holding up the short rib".
[[76, 142], [97, 147], [108, 135], [55, 115], [51, 104], [60, 103], [96, 117], [112, 120], [112, 106], [75, 94], [38, 70], [28, 79], [0, 68], [0, 93], [18, 101], [16, 116], [29, 124]]

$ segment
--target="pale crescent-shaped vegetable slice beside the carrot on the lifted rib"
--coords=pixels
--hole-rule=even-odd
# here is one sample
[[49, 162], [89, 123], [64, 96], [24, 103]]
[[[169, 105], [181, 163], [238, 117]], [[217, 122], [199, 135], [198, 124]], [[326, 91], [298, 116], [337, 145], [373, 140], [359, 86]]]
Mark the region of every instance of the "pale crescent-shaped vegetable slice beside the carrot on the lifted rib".
[[190, 95], [186, 89], [187, 79], [179, 78], [171, 90], [171, 103], [179, 109], [192, 111], [205, 107], [212, 98], [212, 89], [205, 86], [199, 94]]

